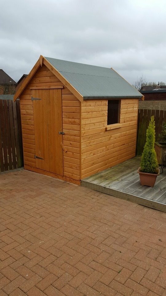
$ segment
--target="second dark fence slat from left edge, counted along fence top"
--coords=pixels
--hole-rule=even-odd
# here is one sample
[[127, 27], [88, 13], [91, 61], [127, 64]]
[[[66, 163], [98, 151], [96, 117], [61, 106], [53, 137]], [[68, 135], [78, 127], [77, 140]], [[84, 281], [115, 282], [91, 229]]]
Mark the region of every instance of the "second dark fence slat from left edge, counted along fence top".
[[12, 151], [11, 151], [11, 138], [10, 138], [10, 122], [9, 122], [9, 112], [7, 100], [3, 101], [4, 115], [5, 115], [5, 126], [6, 126], [6, 140], [7, 140], [7, 151], [8, 151], [8, 163], [9, 170], [12, 170]]

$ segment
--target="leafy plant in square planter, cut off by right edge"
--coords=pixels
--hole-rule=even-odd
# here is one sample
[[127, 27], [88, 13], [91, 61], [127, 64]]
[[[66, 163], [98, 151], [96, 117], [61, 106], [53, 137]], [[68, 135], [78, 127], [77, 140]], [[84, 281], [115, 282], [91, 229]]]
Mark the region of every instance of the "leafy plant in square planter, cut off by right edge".
[[163, 122], [161, 134], [158, 135], [159, 141], [155, 142], [155, 151], [159, 164], [163, 162], [164, 151], [166, 150], [166, 122]]

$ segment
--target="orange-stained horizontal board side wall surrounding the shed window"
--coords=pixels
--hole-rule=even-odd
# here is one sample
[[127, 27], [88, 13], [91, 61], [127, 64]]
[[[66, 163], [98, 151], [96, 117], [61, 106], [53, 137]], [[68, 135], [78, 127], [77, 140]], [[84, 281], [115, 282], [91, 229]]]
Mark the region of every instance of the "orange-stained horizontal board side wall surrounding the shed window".
[[[96, 105], [89, 100], [88, 107], [82, 103], [81, 179], [135, 156], [138, 99], [121, 99], [120, 123], [111, 130], [106, 130], [107, 102], [100, 100]], [[94, 113], [90, 118], [94, 123], [83, 124], [89, 112]]]

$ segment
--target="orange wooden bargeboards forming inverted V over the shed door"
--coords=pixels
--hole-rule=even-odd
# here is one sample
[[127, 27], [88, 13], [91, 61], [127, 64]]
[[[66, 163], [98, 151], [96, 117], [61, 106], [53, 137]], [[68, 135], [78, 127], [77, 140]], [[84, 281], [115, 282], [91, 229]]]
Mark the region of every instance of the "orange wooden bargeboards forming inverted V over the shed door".
[[38, 61], [36, 62], [36, 64], [32, 68], [32, 70], [30, 71], [30, 73], [28, 74], [26, 79], [23, 81], [23, 83], [20, 86], [20, 88], [18, 89], [18, 91], [15, 93], [14, 102], [18, 99], [18, 97], [21, 95], [23, 90], [26, 88], [27, 84], [30, 82], [31, 78], [37, 72], [38, 68], [42, 67], [43, 64], [73, 93], [73, 95], [79, 101], [83, 102], [83, 96], [42, 55], [40, 55]]

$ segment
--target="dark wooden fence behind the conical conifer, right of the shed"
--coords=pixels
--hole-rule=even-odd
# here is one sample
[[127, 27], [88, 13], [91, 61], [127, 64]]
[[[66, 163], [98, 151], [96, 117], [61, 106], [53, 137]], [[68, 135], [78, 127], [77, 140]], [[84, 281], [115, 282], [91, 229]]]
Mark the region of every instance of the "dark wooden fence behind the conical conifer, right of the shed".
[[164, 110], [138, 110], [138, 125], [137, 125], [137, 148], [136, 154], [140, 155], [143, 152], [146, 142], [146, 130], [149, 125], [150, 117], [154, 115], [156, 126], [156, 141], [158, 134], [161, 133], [163, 121], [166, 122], [166, 111]]

